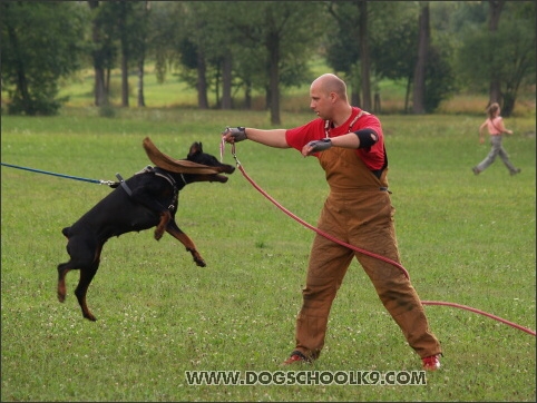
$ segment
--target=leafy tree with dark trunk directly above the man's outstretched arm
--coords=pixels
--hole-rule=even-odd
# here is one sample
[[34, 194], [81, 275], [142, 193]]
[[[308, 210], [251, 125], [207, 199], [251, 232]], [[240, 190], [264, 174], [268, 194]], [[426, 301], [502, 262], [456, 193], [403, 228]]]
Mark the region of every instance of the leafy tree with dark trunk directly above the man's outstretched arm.
[[236, 2], [236, 8], [230, 10], [233, 87], [235, 91], [244, 89], [246, 108], [251, 107], [253, 90], [264, 91], [265, 106], [274, 122], [281, 120], [281, 91], [313, 79], [307, 62], [318, 55], [322, 10], [319, 2], [289, 2], [285, 7], [256, 2], [256, 6]]

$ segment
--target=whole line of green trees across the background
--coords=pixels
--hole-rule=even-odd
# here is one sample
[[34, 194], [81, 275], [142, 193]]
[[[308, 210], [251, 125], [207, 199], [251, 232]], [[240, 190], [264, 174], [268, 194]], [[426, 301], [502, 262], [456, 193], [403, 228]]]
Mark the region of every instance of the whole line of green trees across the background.
[[195, 88], [202, 109], [247, 109], [261, 91], [275, 125], [281, 90], [311, 82], [314, 58], [373, 111], [383, 79], [404, 82], [412, 114], [470, 90], [509, 116], [535, 85], [535, 1], [2, 1], [0, 13], [8, 114], [56, 114], [60, 80], [88, 67], [95, 106], [109, 105], [119, 68], [121, 106], [136, 73], [145, 107], [148, 61], [160, 82]]

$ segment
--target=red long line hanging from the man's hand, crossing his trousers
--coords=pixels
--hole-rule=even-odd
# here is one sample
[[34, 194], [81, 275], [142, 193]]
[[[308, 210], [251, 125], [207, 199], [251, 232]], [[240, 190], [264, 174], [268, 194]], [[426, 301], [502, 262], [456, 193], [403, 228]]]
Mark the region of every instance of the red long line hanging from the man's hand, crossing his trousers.
[[[383, 261], [383, 262], [387, 262], [393, 266], [396, 266], [397, 268], [401, 269], [404, 275], [407, 276], [407, 278], [410, 278], [409, 276], [409, 273], [407, 272], [407, 269], [400, 265], [399, 263], [392, 261], [392, 259], [389, 259], [388, 257], [384, 257], [384, 256], [381, 256], [381, 255], [377, 255], [372, 252], [369, 252], [369, 250], [364, 250], [364, 249], [361, 249], [359, 247], [355, 247], [353, 245], [350, 245], [350, 244], [346, 244], [338, 238], [334, 238], [333, 236], [331, 236], [330, 234], [326, 234], [324, 233], [323, 230], [314, 227], [313, 225], [311, 224], [307, 224], [306, 222], [304, 222], [302, 218], [297, 217], [296, 215], [294, 215], [293, 213], [291, 213], [289, 209], [286, 209], [285, 207], [283, 207], [280, 203], [277, 203], [272, 196], [270, 196], [265, 190], [263, 190], [247, 174], [246, 171], [244, 170], [243, 166], [238, 163], [238, 159], [236, 158], [236, 155], [235, 155], [235, 150], [233, 149], [233, 156], [235, 157], [235, 160], [237, 161], [237, 167], [238, 167], [238, 170], [241, 170], [241, 173], [243, 174], [243, 176], [246, 178], [247, 181], [250, 181], [252, 184], [252, 186], [254, 188], [256, 188], [263, 196], [265, 196], [268, 200], [271, 200], [277, 208], [280, 208], [283, 213], [285, 213], [287, 216], [290, 216], [291, 218], [295, 219], [296, 222], [299, 222], [300, 224], [302, 224], [303, 226], [314, 230], [315, 233], [318, 233], [319, 235], [322, 235], [324, 236], [325, 238], [332, 240], [332, 242], [335, 242], [340, 245], [343, 245], [350, 249], [353, 249], [353, 250], [357, 250], [359, 253], [362, 253], [364, 255], [368, 255], [368, 256], [371, 256], [371, 257], [374, 257], [377, 259], [380, 259], [380, 261]], [[456, 308], [460, 308], [460, 309], [466, 309], [466, 311], [470, 311], [470, 312], [473, 312], [476, 314], [480, 314], [480, 315], [484, 315], [484, 316], [487, 316], [487, 317], [490, 317], [492, 320], [496, 320], [498, 322], [501, 322], [506, 325], [509, 325], [511, 327], [515, 327], [515, 328], [518, 328], [523, 332], [526, 332], [528, 334], [531, 334], [534, 336], [536, 336], [536, 333], [534, 331], [531, 331], [530, 328], [527, 328], [527, 327], [524, 327], [524, 326], [520, 326], [520, 325], [517, 325], [516, 323], [512, 323], [512, 322], [509, 322], [507, 320], [504, 320], [499, 316], [496, 316], [496, 315], [492, 315], [492, 314], [489, 314], [485, 311], [480, 311], [480, 309], [476, 309], [476, 308], [472, 308], [471, 306], [466, 306], [466, 305], [461, 305], [461, 304], [456, 304], [456, 303], [449, 303], [449, 302], [442, 302], [442, 301], [421, 301], [421, 304], [423, 305], [442, 305], [442, 306], [451, 306], [451, 307], [456, 307]]]

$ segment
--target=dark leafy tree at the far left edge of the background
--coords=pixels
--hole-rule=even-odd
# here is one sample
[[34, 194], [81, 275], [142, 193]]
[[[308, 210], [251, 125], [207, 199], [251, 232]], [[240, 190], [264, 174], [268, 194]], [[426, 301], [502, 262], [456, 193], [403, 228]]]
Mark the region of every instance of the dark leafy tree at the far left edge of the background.
[[66, 2], [0, 4], [2, 87], [8, 89], [8, 112], [55, 115], [58, 80], [80, 65], [85, 19], [81, 7]]

